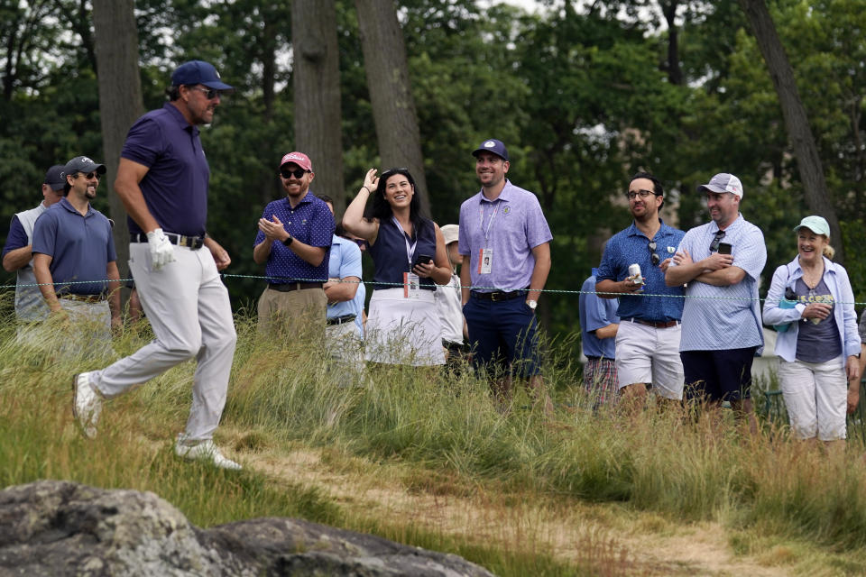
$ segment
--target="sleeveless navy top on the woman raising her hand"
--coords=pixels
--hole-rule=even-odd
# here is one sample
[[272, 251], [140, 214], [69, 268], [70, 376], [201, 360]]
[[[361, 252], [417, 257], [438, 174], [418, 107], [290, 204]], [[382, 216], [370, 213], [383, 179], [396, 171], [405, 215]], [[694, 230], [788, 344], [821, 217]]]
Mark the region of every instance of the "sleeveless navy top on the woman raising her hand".
[[[380, 283], [376, 289], [397, 289], [403, 286], [403, 273], [410, 272], [406, 241], [415, 244], [414, 257], [426, 254], [436, 259], [436, 228], [433, 222], [421, 220], [413, 229], [415, 238], [411, 239], [402, 227], [393, 220], [379, 223], [376, 242], [370, 245], [370, 256], [376, 265], [373, 270], [373, 283]], [[414, 261], [413, 257], [413, 261]], [[436, 290], [433, 279], [420, 279], [420, 288]]]

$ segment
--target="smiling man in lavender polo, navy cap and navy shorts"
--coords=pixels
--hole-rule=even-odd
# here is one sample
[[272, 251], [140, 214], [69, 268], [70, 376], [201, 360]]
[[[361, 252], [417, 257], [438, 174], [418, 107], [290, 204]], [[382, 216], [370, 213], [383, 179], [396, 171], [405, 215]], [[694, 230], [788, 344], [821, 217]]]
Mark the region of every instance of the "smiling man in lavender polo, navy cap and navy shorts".
[[[473, 362], [495, 375], [493, 392], [511, 398], [511, 376], [553, 412], [539, 364], [538, 306], [550, 272], [550, 234], [539, 199], [505, 178], [510, 163], [502, 142], [486, 140], [473, 151], [481, 191], [460, 206], [458, 251], [463, 255], [463, 315], [474, 344]], [[471, 289], [470, 289], [471, 285]]]

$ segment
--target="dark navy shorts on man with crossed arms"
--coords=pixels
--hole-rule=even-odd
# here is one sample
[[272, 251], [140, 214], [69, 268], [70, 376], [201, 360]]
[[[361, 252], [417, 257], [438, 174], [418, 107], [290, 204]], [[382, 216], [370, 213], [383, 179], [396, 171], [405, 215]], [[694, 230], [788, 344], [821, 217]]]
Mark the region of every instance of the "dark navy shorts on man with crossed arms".
[[751, 362], [758, 347], [724, 351], [682, 351], [685, 397], [711, 401], [751, 397]]

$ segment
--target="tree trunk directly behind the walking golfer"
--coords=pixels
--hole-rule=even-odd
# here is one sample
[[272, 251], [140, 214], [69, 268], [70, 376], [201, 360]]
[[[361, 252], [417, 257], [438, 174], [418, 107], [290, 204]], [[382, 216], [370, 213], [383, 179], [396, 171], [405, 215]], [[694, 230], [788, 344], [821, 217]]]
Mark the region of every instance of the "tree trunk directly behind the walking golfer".
[[143, 114], [142, 83], [138, 73], [138, 28], [134, 0], [93, 0], [96, 57], [99, 62], [99, 119], [102, 127], [106, 179], [102, 183], [110, 215], [115, 221], [117, 268], [128, 278], [129, 228], [126, 210], [115, 194], [120, 151], [129, 127]]

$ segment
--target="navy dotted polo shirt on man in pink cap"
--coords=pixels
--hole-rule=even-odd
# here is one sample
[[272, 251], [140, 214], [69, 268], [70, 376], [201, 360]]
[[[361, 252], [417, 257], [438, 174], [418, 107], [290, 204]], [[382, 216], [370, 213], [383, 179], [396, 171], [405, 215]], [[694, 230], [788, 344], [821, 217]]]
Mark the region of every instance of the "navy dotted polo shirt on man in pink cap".
[[[269, 282], [279, 285], [292, 281], [326, 281], [328, 255], [331, 239], [334, 237], [335, 225], [334, 215], [331, 215], [325, 202], [308, 190], [307, 195], [301, 198], [298, 206], [294, 208], [289, 204], [289, 198], [281, 198], [268, 203], [268, 206], [264, 207], [262, 218], [271, 220], [272, 215], [277, 215], [286, 232], [301, 243], [324, 247], [327, 252], [325, 252], [325, 258], [321, 264], [314, 267], [295, 254], [288, 246], [275, 241], [271, 245], [271, 254], [264, 265], [264, 274], [269, 278]], [[255, 235], [253, 246], [263, 242], [264, 233], [259, 231]]]

